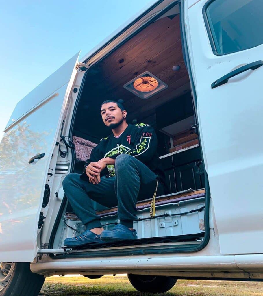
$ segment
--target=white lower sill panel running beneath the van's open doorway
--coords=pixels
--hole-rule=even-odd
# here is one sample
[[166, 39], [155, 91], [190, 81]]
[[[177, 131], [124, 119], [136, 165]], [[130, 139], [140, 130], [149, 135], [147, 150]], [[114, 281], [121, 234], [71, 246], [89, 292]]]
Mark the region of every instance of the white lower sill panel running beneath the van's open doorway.
[[[167, 255], [156, 255], [151, 256], [139, 255], [136, 257], [127, 258], [127, 256], [121, 256], [112, 258], [109, 260], [108, 257], [97, 257], [83, 260], [78, 258], [77, 260], [53, 260], [50, 262], [38, 262], [31, 264], [30, 268], [33, 272], [52, 275], [52, 271], [56, 274], [68, 273], [83, 273], [85, 271], [97, 271], [103, 272], [103, 274], [110, 274], [110, 272], [117, 271], [118, 273], [126, 273], [128, 271], [155, 271], [155, 275], [158, 275], [162, 271], [191, 273], [196, 272], [196, 276], [202, 276], [203, 272], [209, 272], [210, 276], [212, 272], [225, 271], [225, 274], [230, 272], [239, 273], [240, 278], [245, 278], [248, 275], [244, 275], [244, 271], [241, 270], [237, 263], [243, 266], [247, 264], [249, 268], [256, 268], [255, 261], [262, 262], [262, 254], [253, 255], [197, 255], [192, 254], [176, 254], [171, 256]], [[246, 269], [245, 269], [246, 270]], [[257, 270], [257, 269], [255, 269]], [[213, 275], [211, 276], [213, 277]], [[225, 276], [227, 277], [227, 276]]]

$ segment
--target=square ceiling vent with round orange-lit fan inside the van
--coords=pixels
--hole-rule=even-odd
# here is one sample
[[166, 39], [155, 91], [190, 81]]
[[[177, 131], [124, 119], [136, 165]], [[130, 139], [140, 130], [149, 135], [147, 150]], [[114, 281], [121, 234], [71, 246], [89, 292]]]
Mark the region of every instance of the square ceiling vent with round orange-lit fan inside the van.
[[168, 85], [151, 72], [146, 71], [125, 83], [123, 87], [139, 98], [146, 100], [154, 94], [167, 89]]

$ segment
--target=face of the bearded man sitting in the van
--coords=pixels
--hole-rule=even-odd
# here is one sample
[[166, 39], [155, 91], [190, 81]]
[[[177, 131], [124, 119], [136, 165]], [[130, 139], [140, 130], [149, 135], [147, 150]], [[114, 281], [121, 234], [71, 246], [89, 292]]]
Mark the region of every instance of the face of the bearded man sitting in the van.
[[101, 106], [101, 117], [104, 124], [113, 129], [122, 123], [126, 111], [120, 110], [116, 103], [110, 102]]

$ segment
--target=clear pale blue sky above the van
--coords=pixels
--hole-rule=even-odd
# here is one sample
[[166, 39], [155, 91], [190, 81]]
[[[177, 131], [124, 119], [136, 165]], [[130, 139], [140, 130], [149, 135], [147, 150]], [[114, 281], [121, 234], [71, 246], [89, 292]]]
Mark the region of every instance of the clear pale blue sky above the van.
[[153, 0], [1, 1], [0, 140], [20, 99]]

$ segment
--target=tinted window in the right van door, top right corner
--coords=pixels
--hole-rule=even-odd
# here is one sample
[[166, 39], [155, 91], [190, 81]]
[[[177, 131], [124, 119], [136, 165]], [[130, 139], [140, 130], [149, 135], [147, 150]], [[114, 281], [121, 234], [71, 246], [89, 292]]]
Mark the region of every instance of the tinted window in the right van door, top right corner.
[[238, 52], [263, 43], [262, 0], [209, 1], [204, 17], [215, 54]]

